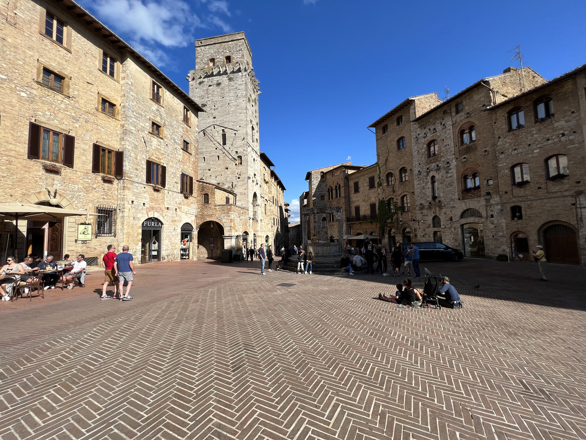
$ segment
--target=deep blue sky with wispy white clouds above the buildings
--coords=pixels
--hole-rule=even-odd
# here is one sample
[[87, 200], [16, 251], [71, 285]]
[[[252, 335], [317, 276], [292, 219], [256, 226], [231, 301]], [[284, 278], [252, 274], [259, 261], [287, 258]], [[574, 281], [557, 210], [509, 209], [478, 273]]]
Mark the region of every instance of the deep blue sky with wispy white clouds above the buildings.
[[[188, 92], [196, 38], [246, 33], [260, 146], [291, 221], [309, 170], [376, 160], [367, 126], [401, 101], [444, 98], [523, 65], [552, 79], [586, 63], [586, 1], [78, 0]], [[199, 103], [202, 104], [202, 103]]]

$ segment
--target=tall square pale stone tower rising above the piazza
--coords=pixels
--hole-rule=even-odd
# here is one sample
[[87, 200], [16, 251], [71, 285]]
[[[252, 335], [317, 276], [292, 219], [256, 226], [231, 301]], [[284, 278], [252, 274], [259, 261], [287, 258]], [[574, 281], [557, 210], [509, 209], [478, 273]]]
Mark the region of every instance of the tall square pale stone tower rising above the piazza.
[[195, 41], [195, 57], [189, 96], [205, 109], [199, 115], [199, 178], [236, 192], [237, 205], [248, 208], [247, 232], [251, 237], [259, 235], [264, 187], [258, 136], [260, 90], [250, 46], [244, 32], [204, 38]]

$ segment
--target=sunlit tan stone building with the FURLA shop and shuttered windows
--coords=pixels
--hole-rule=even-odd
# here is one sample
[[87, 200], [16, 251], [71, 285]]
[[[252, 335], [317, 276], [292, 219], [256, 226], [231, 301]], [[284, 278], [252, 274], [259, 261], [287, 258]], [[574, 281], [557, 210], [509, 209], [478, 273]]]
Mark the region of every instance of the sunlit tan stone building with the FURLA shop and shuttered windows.
[[[95, 263], [114, 243], [137, 262], [179, 259], [182, 231], [196, 225], [202, 109], [73, 1], [11, 2], [0, 14], [0, 176], [12, 182], [3, 201], [55, 196], [63, 208], [107, 214], [19, 222], [19, 255], [84, 253]], [[147, 220], [158, 226], [143, 228]], [[91, 241], [77, 240], [80, 223]]]

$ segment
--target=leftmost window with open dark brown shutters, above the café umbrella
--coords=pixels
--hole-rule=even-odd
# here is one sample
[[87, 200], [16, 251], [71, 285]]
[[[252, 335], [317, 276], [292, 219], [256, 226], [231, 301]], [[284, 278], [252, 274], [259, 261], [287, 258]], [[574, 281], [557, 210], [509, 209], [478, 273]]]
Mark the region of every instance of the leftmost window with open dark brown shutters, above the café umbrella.
[[75, 137], [29, 122], [29, 159], [44, 159], [73, 168]]

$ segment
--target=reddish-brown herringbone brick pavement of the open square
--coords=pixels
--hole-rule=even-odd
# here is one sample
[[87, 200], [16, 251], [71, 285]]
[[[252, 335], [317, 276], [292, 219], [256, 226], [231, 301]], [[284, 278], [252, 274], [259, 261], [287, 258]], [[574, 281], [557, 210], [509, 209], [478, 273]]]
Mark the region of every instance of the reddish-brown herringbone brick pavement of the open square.
[[2, 304], [0, 438], [586, 438], [580, 289], [481, 263], [441, 266], [462, 310], [374, 299], [393, 277], [204, 262], [141, 266], [132, 302], [96, 280]]

